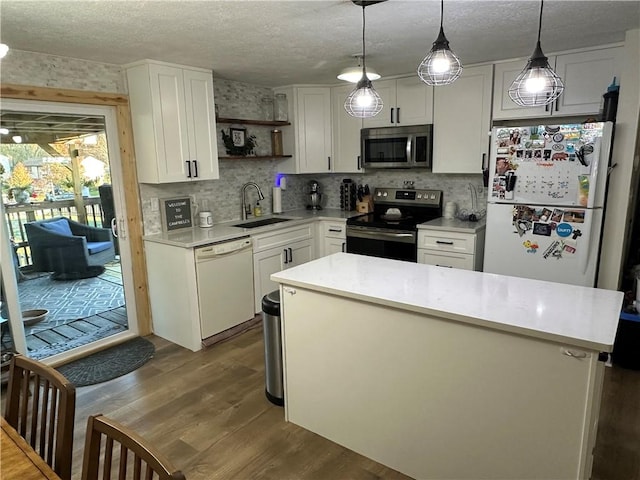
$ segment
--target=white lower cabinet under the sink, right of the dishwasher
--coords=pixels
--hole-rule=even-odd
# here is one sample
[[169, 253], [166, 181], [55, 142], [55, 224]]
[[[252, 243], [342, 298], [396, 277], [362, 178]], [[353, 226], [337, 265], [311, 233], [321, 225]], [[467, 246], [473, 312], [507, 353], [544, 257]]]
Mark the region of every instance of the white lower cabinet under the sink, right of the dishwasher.
[[271, 274], [315, 258], [313, 223], [262, 233], [253, 239], [253, 289], [255, 312], [262, 311], [262, 297], [277, 290]]

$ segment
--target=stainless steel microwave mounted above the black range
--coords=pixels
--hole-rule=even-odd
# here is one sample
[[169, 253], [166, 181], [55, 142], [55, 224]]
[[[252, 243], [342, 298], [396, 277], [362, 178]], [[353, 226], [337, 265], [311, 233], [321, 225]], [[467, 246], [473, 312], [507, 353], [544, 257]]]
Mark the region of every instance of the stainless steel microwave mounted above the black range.
[[433, 125], [363, 128], [364, 168], [431, 168]]

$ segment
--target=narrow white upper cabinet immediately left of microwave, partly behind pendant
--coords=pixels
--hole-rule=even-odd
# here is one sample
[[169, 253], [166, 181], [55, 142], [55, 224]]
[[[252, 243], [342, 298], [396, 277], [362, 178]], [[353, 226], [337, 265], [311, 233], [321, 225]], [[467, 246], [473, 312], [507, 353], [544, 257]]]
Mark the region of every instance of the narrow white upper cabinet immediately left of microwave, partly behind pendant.
[[355, 85], [331, 88], [331, 116], [333, 127], [333, 155], [331, 171], [336, 173], [361, 172], [360, 129], [362, 119], [352, 117], [344, 109], [344, 102]]

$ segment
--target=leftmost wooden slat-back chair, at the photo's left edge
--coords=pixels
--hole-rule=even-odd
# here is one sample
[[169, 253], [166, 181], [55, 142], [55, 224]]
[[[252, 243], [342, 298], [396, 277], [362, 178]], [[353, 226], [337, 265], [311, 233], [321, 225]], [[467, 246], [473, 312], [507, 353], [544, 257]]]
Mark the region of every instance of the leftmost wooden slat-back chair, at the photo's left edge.
[[76, 387], [55, 369], [15, 355], [5, 419], [60, 478], [71, 478]]

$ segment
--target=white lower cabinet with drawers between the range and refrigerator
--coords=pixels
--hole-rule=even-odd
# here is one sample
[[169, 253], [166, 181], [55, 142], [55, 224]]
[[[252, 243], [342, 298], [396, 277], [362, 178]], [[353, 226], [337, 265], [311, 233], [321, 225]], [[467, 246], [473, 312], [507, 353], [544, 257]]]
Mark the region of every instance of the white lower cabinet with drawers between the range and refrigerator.
[[481, 271], [484, 231], [482, 229], [476, 233], [463, 233], [419, 229], [418, 263]]

